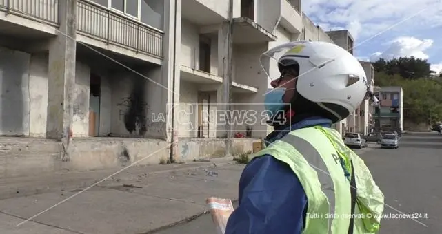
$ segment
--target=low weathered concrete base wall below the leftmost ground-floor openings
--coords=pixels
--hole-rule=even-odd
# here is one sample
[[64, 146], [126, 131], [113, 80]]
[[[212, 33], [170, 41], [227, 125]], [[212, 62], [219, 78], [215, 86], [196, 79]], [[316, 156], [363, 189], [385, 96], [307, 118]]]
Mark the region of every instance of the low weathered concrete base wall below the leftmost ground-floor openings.
[[[145, 158], [139, 165], [168, 159], [165, 140], [130, 138], [74, 138], [71, 158], [60, 158], [61, 142], [42, 138], [0, 138], [0, 178], [61, 171], [119, 169]], [[152, 152], [156, 152], [150, 156]]]

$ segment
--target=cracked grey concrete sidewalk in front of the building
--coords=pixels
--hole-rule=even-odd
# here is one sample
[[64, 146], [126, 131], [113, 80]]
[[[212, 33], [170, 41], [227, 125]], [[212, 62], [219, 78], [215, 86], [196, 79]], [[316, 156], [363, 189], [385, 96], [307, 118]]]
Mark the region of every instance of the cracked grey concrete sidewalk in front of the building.
[[[205, 198], [212, 195], [237, 199], [242, 169], [232, 158], [134, 167], [83, 193], [79, 191], [117, 170], [0, 180], [0, 230], [5, 234], [147, 233], [205, 213]], [[33, 222], [15, 227], [67, 198]]]

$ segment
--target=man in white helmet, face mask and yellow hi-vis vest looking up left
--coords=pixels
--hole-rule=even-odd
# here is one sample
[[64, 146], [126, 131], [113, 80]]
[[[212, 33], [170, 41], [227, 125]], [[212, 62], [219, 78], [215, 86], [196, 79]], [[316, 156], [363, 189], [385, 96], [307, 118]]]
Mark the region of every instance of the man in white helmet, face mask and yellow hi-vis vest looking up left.
[[225, 234], [377, 233], [383, 193], [330, 128], [365, 98], [377, 102], [359, 61], [331, 43], [296, 41], [261, 65], [269, 77], [279, 70], [265, 94], [274, 132], [241, 175]]

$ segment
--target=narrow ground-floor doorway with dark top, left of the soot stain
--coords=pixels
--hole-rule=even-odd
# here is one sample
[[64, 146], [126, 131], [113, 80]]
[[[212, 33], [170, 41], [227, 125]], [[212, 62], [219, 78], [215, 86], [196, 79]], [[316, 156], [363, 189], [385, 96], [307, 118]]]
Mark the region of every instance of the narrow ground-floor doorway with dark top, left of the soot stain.
[[100, 132], [101, 78], [90, 74], [89, 136], [99, 136]]

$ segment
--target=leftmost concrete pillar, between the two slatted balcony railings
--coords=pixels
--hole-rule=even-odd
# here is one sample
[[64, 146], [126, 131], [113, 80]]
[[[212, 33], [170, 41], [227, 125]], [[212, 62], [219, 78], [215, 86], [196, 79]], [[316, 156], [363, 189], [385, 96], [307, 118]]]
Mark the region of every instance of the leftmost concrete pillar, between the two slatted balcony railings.
[[59, 35], [49, 46], [46, 137], [60, 139], [65, 151], [72, 136], [75, 92], [77, 0], [59, 1]]

